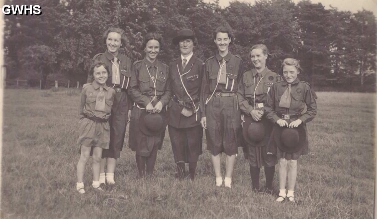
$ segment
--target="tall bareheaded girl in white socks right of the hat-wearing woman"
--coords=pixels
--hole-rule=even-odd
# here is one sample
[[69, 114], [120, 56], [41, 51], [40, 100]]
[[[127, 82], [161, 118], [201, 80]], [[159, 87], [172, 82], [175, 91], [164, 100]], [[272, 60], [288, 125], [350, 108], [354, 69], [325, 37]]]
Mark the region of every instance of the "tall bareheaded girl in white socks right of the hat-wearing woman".
[[238, 108], [237, 87], [243, 72], [243, 61], [228, 50], [233, 35], [230, 30], [219, 27], [213, 32], [218, 52], [208, 58], [204, 65], [202, 95], [200, 98], [201, 125], [207, 136], [207, 150], [216, 175], [216, 186], [222, 185], [220, 153], [224, 152], [225, 187], [231, 188], [233, 165], [241, 141], [241, 111]]

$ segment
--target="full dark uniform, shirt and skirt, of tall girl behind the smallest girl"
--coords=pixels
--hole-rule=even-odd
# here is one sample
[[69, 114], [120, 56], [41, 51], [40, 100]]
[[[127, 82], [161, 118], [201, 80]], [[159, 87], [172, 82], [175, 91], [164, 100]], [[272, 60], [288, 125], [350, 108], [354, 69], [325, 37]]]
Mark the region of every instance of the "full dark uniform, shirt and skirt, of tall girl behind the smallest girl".
[[[120, 70], [120, 84], [116, 85], [112, 84], [112, 61], [114, 56], [106, 50], [104, 53], [95, 55], [92, 59], [93, 62], [102, 61], [107, 64], [110, 72], [106, 84], [109, 87], [113, 87], [116, 91], [110, 118], [110, 147], [108, 150], [103, 150], [102, 158], [120, 158], [120, 152], [123, 149], [124, 137], [126, 135], [128, 110], [132, 107], [132, 100], [127, 94], [132, 62], [126, 55], [120, 53], [116, 55], [116, 58], [118, 58], [116, 65], [119, 64]], [[91, 81], [93, 81], [93, 78], [89, 76], [87, 82], [90, 83]]]

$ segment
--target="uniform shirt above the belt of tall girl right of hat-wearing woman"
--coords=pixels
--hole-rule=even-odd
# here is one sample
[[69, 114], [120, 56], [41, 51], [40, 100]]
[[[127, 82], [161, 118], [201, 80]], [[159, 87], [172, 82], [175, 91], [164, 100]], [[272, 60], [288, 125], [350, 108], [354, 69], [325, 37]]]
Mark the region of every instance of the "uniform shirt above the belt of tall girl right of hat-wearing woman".
[[[226, 84], [218, 84], [215, 92], [234, 93], [237, 92], [238, 83], [241, 80], [244, 62], [238, 55], [232, 55], [230, 52], [225, 57], [221, 57], [218, 53], [208, 58], [204, 64], [204, 74], [202, 78], [202, 94], [200, 99], [200, 109], [202, 117], [205, 117], [205, 101], [215, 90], [217, 84], [217, 75], [220, 69], [219, 62], [222, 63], [222, 59], [225, 59], [227, 65], [227, 78], [229, 78], [228, 86]], [[232, 81], [234, 84], [232, 87]], [[215, 95], [215, 94], [214, 94]], [[213, 97], [212, 97], [213, 98]]]

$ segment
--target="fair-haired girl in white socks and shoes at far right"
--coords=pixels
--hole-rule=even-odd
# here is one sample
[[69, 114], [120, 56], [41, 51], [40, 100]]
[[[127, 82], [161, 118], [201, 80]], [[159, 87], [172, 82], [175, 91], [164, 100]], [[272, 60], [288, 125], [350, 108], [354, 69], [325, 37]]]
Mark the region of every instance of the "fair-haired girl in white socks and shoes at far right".
[[[315, 100], [317, 96], [311, 89], [309, 83], [300, 81], [297, 78], [297, 75], [302, 72], [299, 61], [293, 58], [286, 58], [282, 63], [282, 70], [284, 81], [275, 83], [272, 86], [265, 106], [267, 118], [274, 123], [271, 138], [267, 145], [267, 152], [273, 153], [279, 159], [279, 197], [276, 201], [282, 202], [288, 197], [289, 201], [294, 202], [297, 159], [299, 159], [300, 155], [308, 154], [309, 144], [306, 124], [313, 120], [317, 114], [317, 104]], [[305, 105], [307, 106], [307, 110], [305, 113], [302, 113]], [[280, 127], [288, 127], [290, 129], [299, 127], [298, 129], [302, 129], [303, 135], [299, 136], [301, 140], [305, 140], [300, 144], [302, 147], [299, 148], [299, 145], [288, 145], [288, 147], [291, 148], [289, 150], [285, 148], [282, 144], [284, 143], [282, 140], [286, 139], [286, 141], [289, 142], [293, 137], [284, 136], [284, 133], [290, 132], [284, 132], [284, 129]], [[281, 140], [280, 138], [276, 138], [276, 136], [280, 134]], [[294, 147], [297, 147], [298, 150], [291, 150], [294, 149]], [[288, 193], [286, 194], [285, 185], [287, 175]]]

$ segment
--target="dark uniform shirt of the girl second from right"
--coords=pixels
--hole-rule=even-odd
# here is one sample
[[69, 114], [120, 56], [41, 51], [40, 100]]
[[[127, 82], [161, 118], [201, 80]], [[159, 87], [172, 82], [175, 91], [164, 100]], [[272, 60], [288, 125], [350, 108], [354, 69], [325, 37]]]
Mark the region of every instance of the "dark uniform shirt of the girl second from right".
[[266, 104], [267, 92], [271, 90], [274, 83], [281, 81], [281, 77], [267, 67], [261, 72], [262, 78], [258, 77], [257, 73], [255, 68], [245, 71], [242, 74], [241, 83], [238, 85], [239, 108], [247, 115], [254, 109], [254, 89], [256, 88], [255, 107], [257, 108], [257, 103]]

